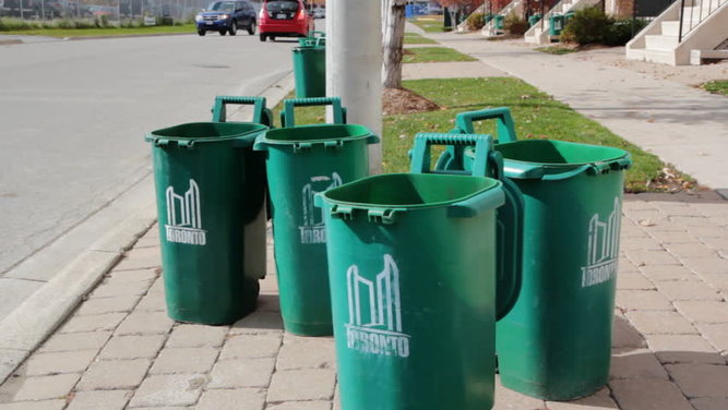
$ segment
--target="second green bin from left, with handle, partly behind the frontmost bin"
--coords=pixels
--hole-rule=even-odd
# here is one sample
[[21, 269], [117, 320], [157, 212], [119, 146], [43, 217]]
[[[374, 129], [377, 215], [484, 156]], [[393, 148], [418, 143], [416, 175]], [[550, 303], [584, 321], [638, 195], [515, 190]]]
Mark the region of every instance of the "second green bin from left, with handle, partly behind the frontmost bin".
[[[343, 118], [338, 98], [335, 117]], [[297, 100], [286, 101], [291, 106]], [[293, 110], [289, 110], [293, 112]], [[294, 123], [291, 116], [286, 117]], [[287, 331], [332, 334], [326, 230], [317, 193], [369, 174], [367, 145], [379, 141], [362, 125], [320, 124], [270, 130], [255, 142], [266, 152], [281, 313]]]

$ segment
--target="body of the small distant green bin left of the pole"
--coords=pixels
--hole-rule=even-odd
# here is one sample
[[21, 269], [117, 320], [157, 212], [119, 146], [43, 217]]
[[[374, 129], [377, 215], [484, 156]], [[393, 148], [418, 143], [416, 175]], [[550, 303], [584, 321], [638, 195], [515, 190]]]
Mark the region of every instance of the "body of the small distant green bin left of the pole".
[[294, 48], [296, 98], [326, 96], [326, 48], [307, 46]]

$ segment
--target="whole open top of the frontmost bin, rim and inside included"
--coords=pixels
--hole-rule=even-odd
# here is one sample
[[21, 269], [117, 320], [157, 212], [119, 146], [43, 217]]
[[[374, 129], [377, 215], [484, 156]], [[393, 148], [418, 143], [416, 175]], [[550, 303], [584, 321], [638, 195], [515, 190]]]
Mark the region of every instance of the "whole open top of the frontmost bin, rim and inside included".
[[[450, 207], [453, 217], [472, 217], [503, 204], [501, 182], [490, 178], [435, 173], [389, 173], [363, 178], [329, 190], [317, 202], [336, 205], [332, 214], [368, 212], [370, 220], [392, 224], [395, 214]], [[372, 215], [379, 218], [372, 218]], [[387, 219], [389, 218], [389, 219]]]

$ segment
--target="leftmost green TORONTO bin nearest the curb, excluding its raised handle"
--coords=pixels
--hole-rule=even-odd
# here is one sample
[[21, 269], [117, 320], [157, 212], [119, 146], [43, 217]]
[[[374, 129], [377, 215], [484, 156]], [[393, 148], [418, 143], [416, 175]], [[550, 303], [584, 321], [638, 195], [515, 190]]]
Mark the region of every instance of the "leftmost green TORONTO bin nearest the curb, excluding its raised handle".
[[267, 126], [196, 122], [153, 131], [154, 179], [167, 313], [225, 325], [255, 309], [258, 278], [246, 272], [246, 226], [264, 204], [264, 181], [244, 172]]

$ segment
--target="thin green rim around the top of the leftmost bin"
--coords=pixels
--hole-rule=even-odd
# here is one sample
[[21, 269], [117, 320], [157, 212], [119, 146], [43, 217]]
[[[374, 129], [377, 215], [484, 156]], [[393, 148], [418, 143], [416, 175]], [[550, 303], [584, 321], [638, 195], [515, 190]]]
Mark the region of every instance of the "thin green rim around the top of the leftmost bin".
[[[176, 136], [170, 135], [172, 130], [180, 128], [193, 128], [193, 126], [212, 126], [212, 128], [236, 128], [240, 126], [250, 128], [234, 134], [225, 134], [218, 136]], [[215, 121], [200, 121], [200, 122], [184, 122], [177, 125], [166, 126], [163, 129], [154, 130], [144, 135], [144, 141], [157, 143], [160, 140], [168, 142], [184, 142], [187, 144], [204, 144], [204, 143], [215, 143], [215, 142], [225, 142], [225, 141], [236, 141], [241, 140], [244, 142], [244, 145], [252, 145], [258, 134], [268, 130], [267, 125], [263, 125], [255, 122], [215, 122]]]

